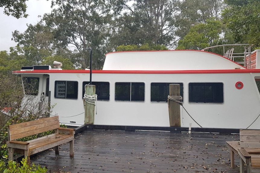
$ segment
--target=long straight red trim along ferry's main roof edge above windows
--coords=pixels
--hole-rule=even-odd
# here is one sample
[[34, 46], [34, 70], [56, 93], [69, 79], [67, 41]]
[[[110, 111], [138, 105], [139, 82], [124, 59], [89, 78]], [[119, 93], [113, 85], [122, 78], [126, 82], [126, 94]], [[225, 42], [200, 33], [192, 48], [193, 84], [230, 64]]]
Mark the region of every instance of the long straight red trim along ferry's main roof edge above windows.
[[[34, 71], [14, 71], [13, 73], [90, 73], [89, 70], [34, 70]], [[260, 73], [260, 69], [252, 70], [167, 70], [167, 71], [138, 71], [138, 70], [92, 70], [92, 73], [107, 74], [213, 74], [213, 73]]]

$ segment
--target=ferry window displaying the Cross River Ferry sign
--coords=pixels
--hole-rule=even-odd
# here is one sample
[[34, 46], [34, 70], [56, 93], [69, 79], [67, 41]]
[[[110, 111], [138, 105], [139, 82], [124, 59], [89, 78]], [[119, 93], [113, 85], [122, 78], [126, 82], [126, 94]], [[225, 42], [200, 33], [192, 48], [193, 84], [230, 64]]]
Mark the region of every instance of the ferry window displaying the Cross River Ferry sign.
[[78, 99], [78, 82], [55, 81], [55, 98]]

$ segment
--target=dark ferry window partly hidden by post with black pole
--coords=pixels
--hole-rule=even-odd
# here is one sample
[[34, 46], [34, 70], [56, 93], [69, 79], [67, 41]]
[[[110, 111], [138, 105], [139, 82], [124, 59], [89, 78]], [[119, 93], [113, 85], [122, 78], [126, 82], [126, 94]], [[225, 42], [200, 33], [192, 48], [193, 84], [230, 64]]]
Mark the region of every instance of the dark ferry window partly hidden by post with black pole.
[[[82, 99], [85, 94], [85, 85], [89, 82], [83, 82]], [[92, 85], [96, 85], [97, 100], [108, 101], [109, 100], [109, 82], [92, 82]]]

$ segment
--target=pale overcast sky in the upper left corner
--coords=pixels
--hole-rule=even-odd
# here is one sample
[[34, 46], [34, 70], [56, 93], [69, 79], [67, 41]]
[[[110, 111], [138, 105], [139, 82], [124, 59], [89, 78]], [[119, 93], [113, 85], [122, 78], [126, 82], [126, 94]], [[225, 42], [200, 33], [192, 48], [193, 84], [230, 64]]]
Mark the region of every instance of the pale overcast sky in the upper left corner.
[[14, 41], [11, 41], [12, 32], [18, 30], [21, 33], [27, 29], [26, 24], [35, 25], [40, 21], [39, 15], [51, 12], [51, 0], [28, 0], [26, 2], [27, 18], [16, 19], [12, 16], [7, 16], [3, 13], [4, 8], [0, 8], [0, 51], [9, 51], [10, 47], [16, 46]]

